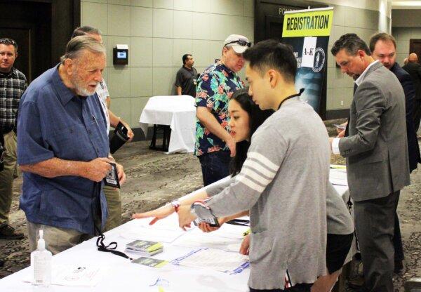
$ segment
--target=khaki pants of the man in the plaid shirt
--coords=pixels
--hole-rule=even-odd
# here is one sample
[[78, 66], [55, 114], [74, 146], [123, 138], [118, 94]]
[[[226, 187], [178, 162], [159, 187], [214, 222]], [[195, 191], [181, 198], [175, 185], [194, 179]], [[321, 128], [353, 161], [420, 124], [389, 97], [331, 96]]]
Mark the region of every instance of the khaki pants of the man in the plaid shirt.
[[8, 216], [11, 211], [17, 144], [14, 131], [4, 135], [6, 151], [4, 152], [4, 170], [0, 171], [0, 225], [8, 224]]

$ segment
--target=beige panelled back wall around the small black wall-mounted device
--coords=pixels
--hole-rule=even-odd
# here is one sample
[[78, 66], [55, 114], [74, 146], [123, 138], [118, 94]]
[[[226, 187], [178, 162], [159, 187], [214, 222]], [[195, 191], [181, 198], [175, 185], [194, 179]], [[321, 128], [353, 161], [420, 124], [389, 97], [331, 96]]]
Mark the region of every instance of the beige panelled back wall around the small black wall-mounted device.
[[[105, 80], [112, 111], [138, 127], [149, 97], [175, 92], [182, 55], [201, 72], [220, 57], [229, 34], [253, 41], [253, 0], [82, 0], [81, 25], [98, 27], [107, 46]], [[126, 66], [112, 65], [112, 48], [128, 44]], [[240, 75], [243, 75], [243, 71]]]

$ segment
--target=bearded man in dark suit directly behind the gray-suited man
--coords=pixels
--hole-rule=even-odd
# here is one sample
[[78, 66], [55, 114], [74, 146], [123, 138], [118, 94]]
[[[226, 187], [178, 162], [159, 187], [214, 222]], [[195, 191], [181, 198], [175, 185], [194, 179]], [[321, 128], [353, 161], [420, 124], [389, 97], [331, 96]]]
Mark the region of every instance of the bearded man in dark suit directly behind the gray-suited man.
[[[373, 53], [374, 60], [379, 60], [383, 66], [393, 72], [402, 85], [405, 93], [406, 109], [406, 137], [408, 141], [408, 159], [409, 171], [412, 172], [421, 163], [420, 147], [418, 147], [417, 134], [413, 123], [413, 110], [415, 100], [415, 89], [412, 79], [408, 72], [399, 66], [396, 62], [396, 40], [390, 34], [380, 32], [370, 39], [370, 51]], [[403, 247], [401, 239], [401, 229], [399, 226], [399, 217], [395, 212], [394, 225], [394, 249], [395, 249], [395, 272], [403, 269]]]

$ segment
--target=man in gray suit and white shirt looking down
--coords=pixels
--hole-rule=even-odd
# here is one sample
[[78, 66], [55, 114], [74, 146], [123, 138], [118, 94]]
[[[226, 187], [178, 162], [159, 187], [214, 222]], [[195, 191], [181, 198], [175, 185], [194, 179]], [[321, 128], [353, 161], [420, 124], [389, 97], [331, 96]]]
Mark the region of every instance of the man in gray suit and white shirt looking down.
[[364, 291], [393, 292], [394, 212], [399, 190], [410, 184], [405, 95], [396, 76], [371, 57], [356, 34], [341, 36], [331, 52], [342, 72], [360, 75], [349, 136], [330, 142], [333, 153], [347, 158]]

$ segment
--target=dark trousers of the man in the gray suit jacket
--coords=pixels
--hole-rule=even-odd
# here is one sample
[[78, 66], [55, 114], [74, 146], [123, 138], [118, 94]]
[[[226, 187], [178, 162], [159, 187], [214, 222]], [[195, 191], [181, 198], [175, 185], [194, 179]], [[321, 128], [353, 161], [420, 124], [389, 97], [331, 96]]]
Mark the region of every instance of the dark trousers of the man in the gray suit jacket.
[[366, 291], [394, 292], [394, 218], [399, 192], [354, 202]]

